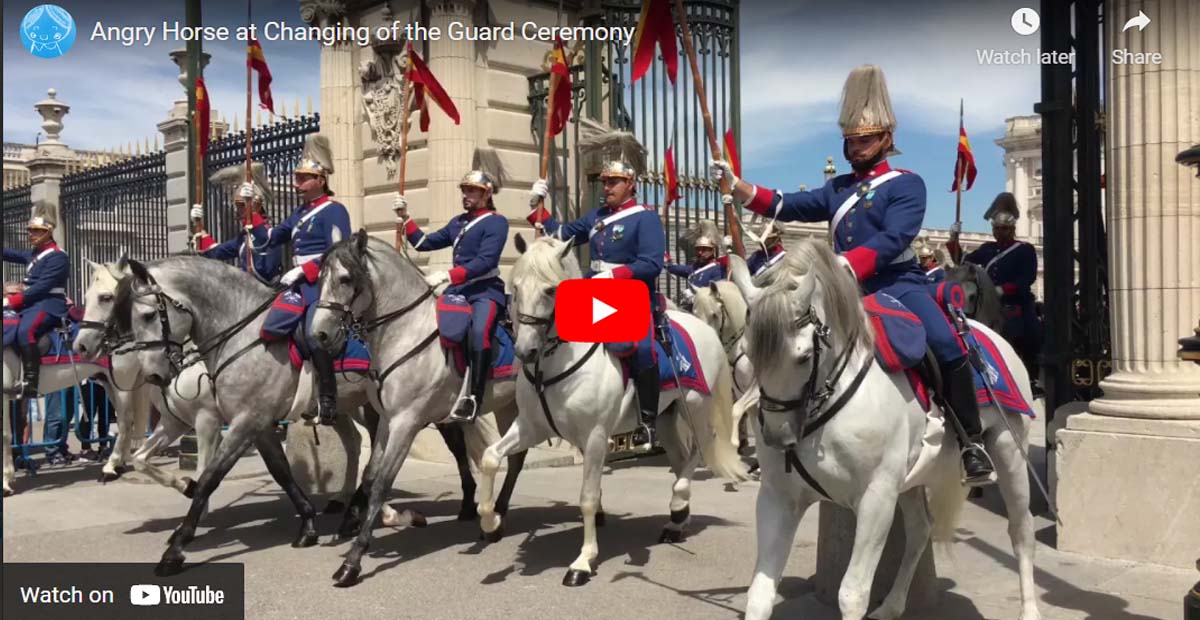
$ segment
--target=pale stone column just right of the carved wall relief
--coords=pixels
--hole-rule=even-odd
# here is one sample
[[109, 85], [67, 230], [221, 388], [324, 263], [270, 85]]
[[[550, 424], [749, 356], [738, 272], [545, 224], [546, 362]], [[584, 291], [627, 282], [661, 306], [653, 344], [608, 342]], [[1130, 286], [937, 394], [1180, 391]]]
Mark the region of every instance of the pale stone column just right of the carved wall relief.
[[[445, 32], [451, 22], [474, 24], [473, 0], [442, 0], [430, 4], [430, 25]], [[476, 145], [475, 108], [475, 44], [470, 41], [431, 41], [428, 44], [430, 71], [438, 77], [442, 86], [458, 109], [461, 124], [455, 125], [432, 101], [428, 133], [428, 205], [430, 230], [445, 225], [462, 212], [462, 192], [458, 181], [470, 169], [470, 158]], [[416, 119], [414, 119], [414, 124]], [[412, 134], [409, 134], [412, 139]], [[437, 252], [430, 257], [432, 270], [450, 269], [449, 252]]]

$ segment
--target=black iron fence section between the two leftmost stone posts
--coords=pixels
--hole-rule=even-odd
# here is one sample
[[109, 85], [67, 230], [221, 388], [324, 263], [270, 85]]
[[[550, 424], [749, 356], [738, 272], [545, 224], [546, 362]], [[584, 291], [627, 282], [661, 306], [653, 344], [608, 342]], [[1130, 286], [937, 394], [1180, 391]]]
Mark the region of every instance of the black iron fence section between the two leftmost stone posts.
[[77, 302], [91, 277], [89, 260], [167, 255], [166, 161], [158, 151], [62, 177], [59, 225], [71, 257], [67, 291]]

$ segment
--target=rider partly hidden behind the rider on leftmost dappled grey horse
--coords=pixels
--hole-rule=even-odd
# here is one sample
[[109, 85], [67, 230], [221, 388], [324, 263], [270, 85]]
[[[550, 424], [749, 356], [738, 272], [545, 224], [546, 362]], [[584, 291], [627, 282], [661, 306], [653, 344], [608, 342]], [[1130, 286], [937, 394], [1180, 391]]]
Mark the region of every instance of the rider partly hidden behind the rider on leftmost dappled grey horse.
[[[246, 212], [246, 203], [251, 204], [251, 221], [247, 224], [247, 233], [240, 237], [234, 237], [217, 243], [212, 235], [202, 230], [192, 235], [192, 245], [196, 251], [205, 258], [216, 260], [238, 259], [238, 267], [254, 276], [264, 284], [270, 284], [280, 277], [283, 267], [283, 247], [275, 246], [265, 251], [266, 246], [266, 203], [272, 199], [270, 183], [263, 171], [263, 164], [254, 162], [251, 167], [252, 181], [244, 181], [246, 168], [242, 165], [230, 165], [209, 177], [216, 185], [226, 186], [234, 197], [233, 204], [239, 217]], [[192, 219], [204, 219], [204, 205], [192, 205]], [[246, 239], [253, 240], [247, 245]]]

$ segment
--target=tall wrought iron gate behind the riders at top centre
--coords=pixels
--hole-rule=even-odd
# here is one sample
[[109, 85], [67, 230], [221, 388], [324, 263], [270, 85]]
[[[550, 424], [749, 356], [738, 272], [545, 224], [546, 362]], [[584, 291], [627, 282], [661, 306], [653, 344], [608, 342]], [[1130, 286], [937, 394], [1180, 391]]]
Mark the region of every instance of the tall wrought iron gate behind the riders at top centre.
[[[733, 128], [734, 137], [739, 136], [738, 4], [738, 0], [684, 1], [718, 139], [728, 128]], [[586, 17], [584, 24], [636, 26], [641, 6], [638, 0], [604, 0], [601, 11]], [[582, 64], [571, 67], [571, 125], [554, 144], [557, 159], [551, 167], [553, 193], [550, 206], [557, 217], [572, 218], [600, 205], [598, 183], [593, 179], [583, 179], [575, 165], [578, 161], [575, 145], [580, 115], [628, 130], [647, 150], [649, 169], [638, 177], [638, 199], [647, 205], [656, 205], [664, 213], [671, 255], [676, 261], [686, 261], [689, 257], [682, 254], [677, 243], [684, 230], [701, 219], [713, 219], [720, 225], [726, 223], [720, 191], [708, 180], [708, 139], [692, 88], [691, 65], [682, 42], [677, 47], [679, 72], [672, 85], [661, 60], [656, 60], [637, 84], [630, 84], [631, 46], [595, 41], [583, 46]], [[548, 91], [548, 73], [529, 78], [532, 130], [539, 148]], [[672, 145], [683, 198], [664, 211], [666, 176], [662, 159], [666, 149]], [[662, 291], [676, 296], [678, 284], [676, 278], [664, 276]]]

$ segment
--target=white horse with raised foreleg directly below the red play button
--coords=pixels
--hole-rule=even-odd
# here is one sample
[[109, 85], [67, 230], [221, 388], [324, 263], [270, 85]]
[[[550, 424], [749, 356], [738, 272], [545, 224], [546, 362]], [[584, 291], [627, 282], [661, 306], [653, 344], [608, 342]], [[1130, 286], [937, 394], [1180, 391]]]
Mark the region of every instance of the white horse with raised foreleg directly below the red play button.
[[[563, 584], [582, 585], [595, 574], [596, 516], [600, 507], [600, 474], [613, 433], [631, 431], [636, 423], [634, 387], [626, 386], [620, 363], [599, 344], [574, 343], [557, 337], [553, 325], [554, 291], [560, 282], [580, 277], [580, 265], [571, 246], [541, 237], [528, 248], [517, 236], [521, 258], [512, 267], [512, 309], [517, 321], [516, 348], [523, 369], [517, 379], [516, 422], [499, 443], [484, 453], [479, 516], [488, 541], [503, 534], [500, 516], [493, 510], [493, 484], [500, 459], [553, 435], [560, 435], [583, 451], [583, 548], [571, 562]], [[683, 326], [696, 345], [712, 396], [676, 389], [664, 395], [655, 427], [676, 475], [671, 495], [671, 520], [661, 541], [679, 542], [690, 518], [691, 476], [703, 455], [716, 475], [742, 480], [742, 462], [730, 440], [730, 368], [716, 333], [691, 314], [671, 311], [671, 319]], [[662, 363], [670, 363], [662, 360]], [[534, 373], [545, 378], [539, 385]], [[545, 401], [544, 401], [545, 399]], [[700, 450], [696, 450], [698, 446]]]

